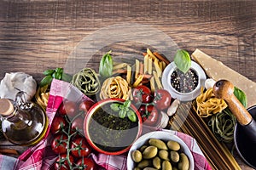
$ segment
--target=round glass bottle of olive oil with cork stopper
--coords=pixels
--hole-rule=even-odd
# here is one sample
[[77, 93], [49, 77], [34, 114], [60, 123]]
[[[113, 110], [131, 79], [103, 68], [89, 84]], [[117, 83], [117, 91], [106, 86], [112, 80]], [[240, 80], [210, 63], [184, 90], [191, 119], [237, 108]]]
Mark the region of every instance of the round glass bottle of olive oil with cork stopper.
[[11, 143], [33, 145], [43, 139], [48, 118], [43, 109], [17, 94], [16, 101], [0, 99], [3, 134]]

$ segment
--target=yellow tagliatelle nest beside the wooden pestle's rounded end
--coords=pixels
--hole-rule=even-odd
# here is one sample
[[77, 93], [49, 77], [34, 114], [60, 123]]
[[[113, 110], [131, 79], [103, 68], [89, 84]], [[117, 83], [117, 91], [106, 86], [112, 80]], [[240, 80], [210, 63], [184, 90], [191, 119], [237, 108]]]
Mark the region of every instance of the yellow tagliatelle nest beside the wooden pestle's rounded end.
[[205, 93], [201, 90], [201, 95], [196, 98], [196, 105], [196, 113], [202, 117], [212, 116], [212, 114], [219, 113], [228, 106], [224, 99], [218, 99], [214, 96], [212, 88], [207, 89]]

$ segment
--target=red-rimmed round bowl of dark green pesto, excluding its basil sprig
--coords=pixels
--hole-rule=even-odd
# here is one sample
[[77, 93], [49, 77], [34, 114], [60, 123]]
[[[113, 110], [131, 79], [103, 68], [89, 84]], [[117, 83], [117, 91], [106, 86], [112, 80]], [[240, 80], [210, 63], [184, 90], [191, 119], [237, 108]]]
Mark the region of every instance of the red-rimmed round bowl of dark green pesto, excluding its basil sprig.
[[137, 122], [131, 122], [128, 117], [119, 118], [118, 111], [110, 108], [113, 103], [124, 102], [123, 99], [102, 99], [87, 112], [84, 134], [94, 150], [107, 155], [119, 155], [128, 151], [131, 144], [140, 137], [143, 121], [134, 105], [130, 105], [130, 109], [136, 113]]

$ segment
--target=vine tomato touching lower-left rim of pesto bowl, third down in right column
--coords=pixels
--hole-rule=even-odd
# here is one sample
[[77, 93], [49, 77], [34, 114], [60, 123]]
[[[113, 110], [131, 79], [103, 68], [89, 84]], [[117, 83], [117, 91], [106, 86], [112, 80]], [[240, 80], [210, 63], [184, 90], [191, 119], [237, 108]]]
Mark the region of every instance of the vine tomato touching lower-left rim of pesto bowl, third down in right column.
[[76, 157], [89, 156], [91, 152], [89, 144], [82, 137], [73, 139], [71, 144], [71, 153]]

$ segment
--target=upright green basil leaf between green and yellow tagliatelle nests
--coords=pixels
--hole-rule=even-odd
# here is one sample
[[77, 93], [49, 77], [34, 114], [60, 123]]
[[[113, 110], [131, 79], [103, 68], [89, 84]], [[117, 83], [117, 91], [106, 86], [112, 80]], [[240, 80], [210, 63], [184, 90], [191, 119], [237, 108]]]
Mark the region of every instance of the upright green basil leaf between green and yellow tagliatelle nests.
[[102, 56], [100, 66], [99, 66], [99, 74], [104, 78], [108, 78], [112, 76], [113, 59], [110, 53], [111, 51], [109, 51], [108, 54], [105, 54]]

